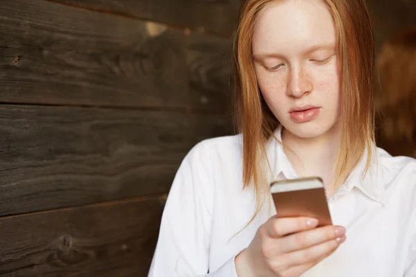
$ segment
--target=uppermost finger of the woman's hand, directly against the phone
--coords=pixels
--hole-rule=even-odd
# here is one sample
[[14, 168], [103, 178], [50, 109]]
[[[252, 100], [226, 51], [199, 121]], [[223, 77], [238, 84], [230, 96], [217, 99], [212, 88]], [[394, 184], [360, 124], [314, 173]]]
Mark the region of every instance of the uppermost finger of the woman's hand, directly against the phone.
[[266, 232], [271, 238], [306, 231], [318, 226], [318, 220], [312, 217], [271, 217], [265, 224]]

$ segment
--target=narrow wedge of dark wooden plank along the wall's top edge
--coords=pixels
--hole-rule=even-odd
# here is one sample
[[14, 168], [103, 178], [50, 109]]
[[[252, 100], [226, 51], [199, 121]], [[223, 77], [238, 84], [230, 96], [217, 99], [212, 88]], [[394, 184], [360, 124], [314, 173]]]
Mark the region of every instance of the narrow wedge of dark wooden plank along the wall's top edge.
[[53, 0], [90, 10], [164, 22], [181, 28], [230, 37], [241, 0]]

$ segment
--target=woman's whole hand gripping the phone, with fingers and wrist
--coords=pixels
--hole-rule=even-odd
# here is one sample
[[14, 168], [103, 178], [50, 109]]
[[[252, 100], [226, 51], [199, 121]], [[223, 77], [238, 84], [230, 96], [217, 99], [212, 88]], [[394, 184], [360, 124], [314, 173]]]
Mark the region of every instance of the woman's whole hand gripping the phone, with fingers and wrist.
[[316, 226], [318, 220], [309, 217], [270, 217], [236, 256], [237, 275], [299, 277], [345, 241], [343, 227]]

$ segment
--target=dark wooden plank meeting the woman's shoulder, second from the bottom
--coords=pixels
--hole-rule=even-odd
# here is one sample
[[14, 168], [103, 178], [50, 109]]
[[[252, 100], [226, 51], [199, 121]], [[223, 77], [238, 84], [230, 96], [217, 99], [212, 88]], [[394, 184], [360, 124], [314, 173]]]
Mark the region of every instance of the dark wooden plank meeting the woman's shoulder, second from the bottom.
[[193, 145], [225, 116], [0, 106], [0, 215], [166, 193]]

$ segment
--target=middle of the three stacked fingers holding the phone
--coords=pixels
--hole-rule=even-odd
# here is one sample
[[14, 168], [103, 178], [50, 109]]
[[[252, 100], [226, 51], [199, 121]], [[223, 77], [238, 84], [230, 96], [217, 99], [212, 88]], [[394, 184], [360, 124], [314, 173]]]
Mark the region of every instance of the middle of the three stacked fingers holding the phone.
[[324, 226], [295, 233], [279, 239], [279, 253], [306, 249], [322, 242], [341, 238], [343, 235], [345, 235], [345, 228], [342, 226]]

